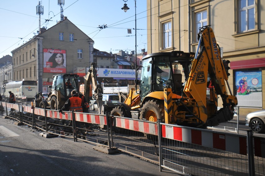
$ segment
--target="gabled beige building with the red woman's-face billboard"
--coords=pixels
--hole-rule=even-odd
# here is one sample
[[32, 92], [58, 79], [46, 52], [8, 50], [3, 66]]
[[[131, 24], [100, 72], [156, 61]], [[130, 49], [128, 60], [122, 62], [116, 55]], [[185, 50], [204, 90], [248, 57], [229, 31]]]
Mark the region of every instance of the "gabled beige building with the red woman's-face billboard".
[[[79, 74], [78, 70], [90, 66], [93, 44], [89, 36], [64, 17], [47, 30], [41, 28], [40, 34], [12, 51], [13, 81], [34, 80], [38, 91], [48, 92], [52, 82], [47, 82], [47, 78], [64, 73]], [[56, 62], [58, 58], [60, 61]], [[83, 76], [83, 72], [80, 74]]]

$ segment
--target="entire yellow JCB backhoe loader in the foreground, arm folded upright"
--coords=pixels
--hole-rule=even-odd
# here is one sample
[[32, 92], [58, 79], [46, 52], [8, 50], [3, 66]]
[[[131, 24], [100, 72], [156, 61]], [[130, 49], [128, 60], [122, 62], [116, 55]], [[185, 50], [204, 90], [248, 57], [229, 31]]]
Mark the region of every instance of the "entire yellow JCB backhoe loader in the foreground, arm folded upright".
[[[212, 28], [203, 26], [196, 53], [151, 53], [136, 69], [135, 86], [118, 105], [103, 105], [111, 115], [205, 128], [231, 120], [237, 99], [228, 83], [229, 61], [221, 58]], [[139, 70], [141, 77], [137, 79]], [[210, 97], [206, 96], [211, 81]], [[223, 107], [218, 107], [218, 96]]]

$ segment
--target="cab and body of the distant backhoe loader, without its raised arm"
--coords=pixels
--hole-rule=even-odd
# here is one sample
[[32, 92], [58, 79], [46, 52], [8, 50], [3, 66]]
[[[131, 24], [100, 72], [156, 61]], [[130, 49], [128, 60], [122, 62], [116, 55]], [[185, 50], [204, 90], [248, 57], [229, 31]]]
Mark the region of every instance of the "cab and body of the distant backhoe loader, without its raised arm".
[[[66, 86], [67, 80], [70, 79], [72, 87]], [[34, 100], [34, 107], [48, 108], [51, 110], [58, 110], [63, 107], [65, 102], [72, 96], [72, 90], [79, 92], [78, 87], [79, 76], [76, 74], [61, 74], [53, 76], [53, 84], [49, 86], [51, 91], [47, 95], [46, 100]], [[49, 82], [47, 78], [47, 82]]]

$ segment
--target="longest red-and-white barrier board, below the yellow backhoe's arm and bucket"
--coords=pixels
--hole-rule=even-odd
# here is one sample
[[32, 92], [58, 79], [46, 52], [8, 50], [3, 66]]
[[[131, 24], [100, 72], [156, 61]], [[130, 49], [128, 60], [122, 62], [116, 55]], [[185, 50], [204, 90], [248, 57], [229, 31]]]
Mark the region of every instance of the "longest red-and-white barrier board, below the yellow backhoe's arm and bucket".
[[239, 135], [162, 125], [162, 137], [247, 155], [246, 137]]

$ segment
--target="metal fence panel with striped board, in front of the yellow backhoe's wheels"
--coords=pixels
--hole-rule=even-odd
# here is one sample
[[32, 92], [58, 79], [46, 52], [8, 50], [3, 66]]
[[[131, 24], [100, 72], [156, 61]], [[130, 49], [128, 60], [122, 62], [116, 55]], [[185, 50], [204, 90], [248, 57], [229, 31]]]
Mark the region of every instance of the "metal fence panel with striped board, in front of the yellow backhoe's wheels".
[[116, 116], [111, 119], [113, 147], [158, 164], [157, 123]]

